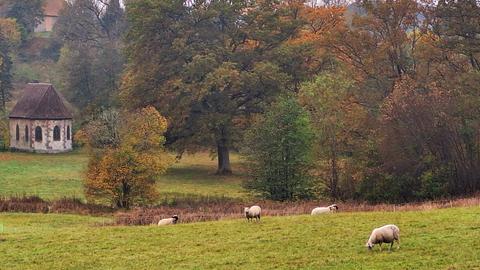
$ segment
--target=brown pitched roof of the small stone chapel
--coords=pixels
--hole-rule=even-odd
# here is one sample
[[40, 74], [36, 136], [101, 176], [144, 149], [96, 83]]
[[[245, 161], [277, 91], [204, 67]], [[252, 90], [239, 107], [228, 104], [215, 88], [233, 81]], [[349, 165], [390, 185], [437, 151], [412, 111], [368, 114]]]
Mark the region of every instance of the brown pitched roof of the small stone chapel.
[[51, 84], [29, 83], [9, 117], [55, 120], [72, 119], [72, 114]]

